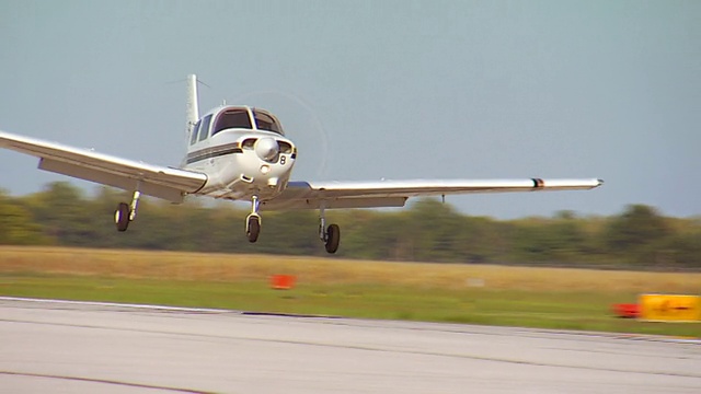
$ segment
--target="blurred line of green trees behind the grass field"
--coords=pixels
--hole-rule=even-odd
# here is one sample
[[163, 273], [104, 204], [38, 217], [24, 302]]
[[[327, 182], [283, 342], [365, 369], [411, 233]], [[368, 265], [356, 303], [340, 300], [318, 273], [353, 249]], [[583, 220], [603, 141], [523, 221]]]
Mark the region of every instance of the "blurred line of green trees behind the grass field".
[[[182, 206], [143, 199], [138, 219], [118, 233], [113, 212], [129, 199], [106, 187], [88, 196], [65, 182], [20, 197], [0, 190], [0, 244], [325, 255], [317, 211], [265, 212], [261, 239], [250, 244], [248, 209], [197, 198]], [[341, 225], [337, 255], [348, 258], [701, 269], [701, 218], [669, 218], [645, 205], [610, 217], [496, 220], [423, 199], [402, 210], [329, 211], [327, 221]]]

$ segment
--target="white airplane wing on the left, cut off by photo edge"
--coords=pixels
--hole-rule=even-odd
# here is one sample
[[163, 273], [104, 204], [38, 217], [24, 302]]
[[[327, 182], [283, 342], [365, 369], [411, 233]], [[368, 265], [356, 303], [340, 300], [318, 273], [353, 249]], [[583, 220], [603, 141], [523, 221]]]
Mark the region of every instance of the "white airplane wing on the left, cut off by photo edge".
[[199, 190], [207, 182], [207, 175], [193, 171], [146, 164], [4, 131], [0, 131], [0, 148], [39, 158], [41, 170], [130, 192], [138, 185], [142, 194], [173, 202], [182, 202], [184, 194]]

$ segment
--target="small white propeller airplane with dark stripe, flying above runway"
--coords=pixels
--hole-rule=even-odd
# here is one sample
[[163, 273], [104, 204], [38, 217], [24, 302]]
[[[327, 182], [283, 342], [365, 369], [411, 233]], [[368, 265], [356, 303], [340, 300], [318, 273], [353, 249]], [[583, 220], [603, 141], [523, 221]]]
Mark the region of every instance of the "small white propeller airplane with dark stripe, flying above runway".
[[414, 179], [376, 182], [294, 182], [297, 147], [269, 112], [221, 105], [199, 116], [197, 78], [187, 77], [187, 155], [179, 167], [146, 164], [93, 150], [0, 130], [0, 148], [39, 158], [38, 167], [133, 192], [130, 204], [114, 212], [118, 231], [136, 219], [139, 198], [149, 195], [175, 204], [187, 195], [248, 200], [245, 234], [256, 242], [262, 209], [318, 209], [319, 237], [326, 252], [338, 250], [337, 224], [326, 227], [324, 211], [335, 208], [403, 207], [410, 197], [467, 193], [585, 190], [600, 186], [585, 179]]

